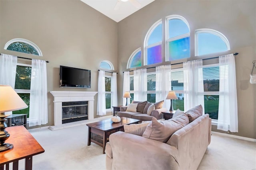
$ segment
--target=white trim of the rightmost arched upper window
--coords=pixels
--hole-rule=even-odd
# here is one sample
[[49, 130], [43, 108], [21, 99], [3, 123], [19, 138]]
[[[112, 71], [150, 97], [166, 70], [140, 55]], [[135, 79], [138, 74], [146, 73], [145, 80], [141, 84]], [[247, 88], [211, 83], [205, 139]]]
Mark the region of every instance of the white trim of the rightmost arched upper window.
[[224, 36], [224, 34], [222, 34], [221, 32], [218, 32], [217, 30], [202, 28], [202, 29], [195, 30], [195, 56], [198, 56], [198, 34], [201, 34], [201, 33], [209, 33], [209, 34], [213, 34], [215, 36], [220, 37], [221, 40], [226, 44], [227, 51], [230, 50], [230, 44], [226, 36]]

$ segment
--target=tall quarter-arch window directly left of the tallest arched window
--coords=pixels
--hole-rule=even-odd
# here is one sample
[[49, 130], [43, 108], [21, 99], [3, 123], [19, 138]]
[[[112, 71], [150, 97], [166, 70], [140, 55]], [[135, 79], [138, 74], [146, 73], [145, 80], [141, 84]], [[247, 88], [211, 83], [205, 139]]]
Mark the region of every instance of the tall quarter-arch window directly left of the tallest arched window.
[[144, 40], [144, 65], [162, 62], [162, 20], [155, 22]]

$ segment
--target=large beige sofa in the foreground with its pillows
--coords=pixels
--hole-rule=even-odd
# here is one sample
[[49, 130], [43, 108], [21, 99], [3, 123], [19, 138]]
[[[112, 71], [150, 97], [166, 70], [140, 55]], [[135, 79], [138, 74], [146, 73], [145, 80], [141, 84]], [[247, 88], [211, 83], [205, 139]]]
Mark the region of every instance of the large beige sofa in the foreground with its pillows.
[[196, 170], [210, 141], [211, 119], [202, 115], [199, 105], [173, 119], [153, 118], [137, 135], [126, 130], [111, 134], [105, 150], [106, 169]]

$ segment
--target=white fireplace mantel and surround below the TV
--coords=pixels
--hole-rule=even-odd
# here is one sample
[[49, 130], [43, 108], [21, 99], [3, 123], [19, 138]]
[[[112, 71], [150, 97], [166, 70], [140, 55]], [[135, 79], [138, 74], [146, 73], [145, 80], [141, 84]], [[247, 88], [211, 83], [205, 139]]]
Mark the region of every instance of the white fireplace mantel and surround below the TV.
[[[50, 91], [50, 93], [54, 97], [54, 127], [51, 126], [49, 129], [55, 130], [60, 129], [62, 126], [62, 103], [70, 103], [70, 102], [86, 102], [87, 112], [85, 115], [74, 114], [76, 118], [71, 118], [76, 121], [80, 121], [80, 119], [84, 120], [86, 117], [88, 120], [94, 119], [94, 96], [98, 93], [96, 91]], [[79, 104], [75, 104], [79, 105]], [[66, 106], [69, 106], [66, 105]], [[79, 107], [76, 107], [79, 109]], [[74, 111], [74, 108], [72, 108]], [[67, 113], [68, 114], [68, 113]], [[66, 116], [66, 115], [65, 115]], [[66, 125], [66, 124], [65, 124]]]

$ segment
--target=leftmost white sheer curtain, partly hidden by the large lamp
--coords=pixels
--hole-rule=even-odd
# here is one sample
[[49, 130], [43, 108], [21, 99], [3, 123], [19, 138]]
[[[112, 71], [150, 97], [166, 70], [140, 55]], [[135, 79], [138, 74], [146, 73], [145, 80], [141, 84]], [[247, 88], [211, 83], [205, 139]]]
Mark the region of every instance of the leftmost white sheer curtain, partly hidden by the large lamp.
[[[17, 57], [8, 54], [0, 55], [0, 85], [10, 85], [15, 87]], [[6, 112], [6, 115], [11, 115], [12, 112]]]

